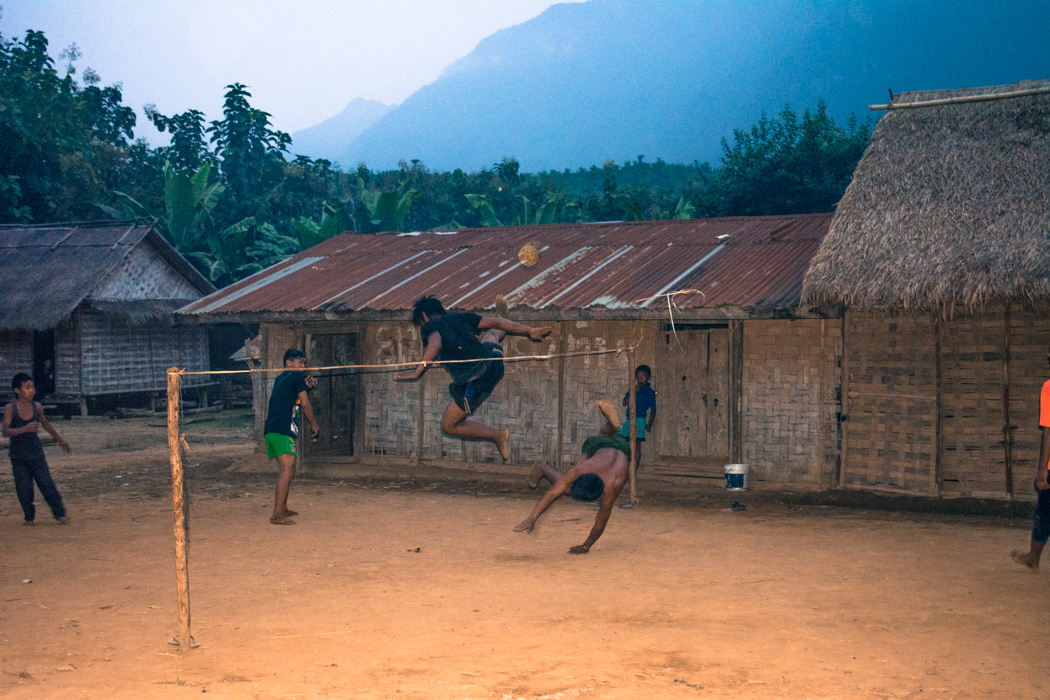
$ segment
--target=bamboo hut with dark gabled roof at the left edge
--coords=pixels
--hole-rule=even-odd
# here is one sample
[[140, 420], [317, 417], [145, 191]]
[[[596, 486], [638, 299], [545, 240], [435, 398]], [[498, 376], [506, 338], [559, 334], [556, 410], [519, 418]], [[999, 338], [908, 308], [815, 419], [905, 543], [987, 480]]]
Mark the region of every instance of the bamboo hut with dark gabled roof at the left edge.
[[149, 224], [0, 226], [0, 379], [50, 360], [47, 402], [86, 411], [92, 397], [164, 391], [170, 366], [208, 368], [208, 334], [172, 313], [215, 288]]

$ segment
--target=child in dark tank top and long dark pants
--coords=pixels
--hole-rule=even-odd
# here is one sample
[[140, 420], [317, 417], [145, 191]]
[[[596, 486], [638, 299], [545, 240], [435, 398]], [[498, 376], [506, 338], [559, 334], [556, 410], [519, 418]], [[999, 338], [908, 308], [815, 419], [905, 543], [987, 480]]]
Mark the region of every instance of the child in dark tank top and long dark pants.
[[40, 493], [50, 507], [55, 519], [62, 524], [68, 523], [69, 516], [66, 515], [62, 495], [55, 486], [55, 480], [51, 479], [51, 471], [47, 468], [44, 446], [37, 431], [40, 428], [46, 430], [66, 453], [70, 451], [69, 443], [62, 440], [58, 430], [44, 416], [43, 406], [33, 400], [37, 389], [29, 375], [24, 372], [18, 373], [10, 380], [10, 387], [15, 389], [15, 402], [4, 408], [2, 432], [5, 438], [10, 439], [7, 451], [10, 454], [10, 468], [15, 476], [15, 492], [25, 515], [22, 525], [33, 525], [37, 517], [37, 507], [33, 504], [34, 482], [40, 488]]

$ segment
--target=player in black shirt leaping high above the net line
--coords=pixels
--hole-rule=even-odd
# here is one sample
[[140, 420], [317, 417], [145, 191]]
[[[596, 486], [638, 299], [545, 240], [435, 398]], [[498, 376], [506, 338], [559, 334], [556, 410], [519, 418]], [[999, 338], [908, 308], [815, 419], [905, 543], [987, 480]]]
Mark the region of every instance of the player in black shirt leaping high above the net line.
[[[503, 337], [511, 333], [528, 336], [538, 342], [550, 334], [550, 328], [522, 325], [504, 318], [507, 302], [502, 296], [497, 297], [496, 306], [500, 317], [488, 318], [469, 313], [447, 314], [441, 301], [433, 296], [417, 299], [412, 321], [420, 326], [423, 359], [413, 372], [401, 373], [397, 379], [419, 379], [426, 372], [427, 363], [435, 359], [478, 360], [443, 365], [452, 376], [453, 383], [448, 385], [452, 401], [441, 417], [441, 429], [461, 440], [488, 440], [506, 460], [509, 457], [507, 441], [510, 431], [497, 430], [466, 419], [478, 410], [503, 379], [503, 360], [489, 359], [503, 357], [503, 348], [500, 346]], [[485, 331], [485, 335], [478, 340], [478, 333], [481, 331]]]

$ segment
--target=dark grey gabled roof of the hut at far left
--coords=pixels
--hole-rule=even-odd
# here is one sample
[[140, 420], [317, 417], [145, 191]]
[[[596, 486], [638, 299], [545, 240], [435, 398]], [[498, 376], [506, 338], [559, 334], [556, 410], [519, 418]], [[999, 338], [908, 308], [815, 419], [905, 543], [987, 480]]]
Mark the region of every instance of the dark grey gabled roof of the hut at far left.
[[[201, 294], [215, 291], [150, 224], [0, 226], [0, 330], [55, 327], [144, 240]], [[170, 317], [187, 301], [92, 299], [90, 303], [132, 322], [143, 322]]]

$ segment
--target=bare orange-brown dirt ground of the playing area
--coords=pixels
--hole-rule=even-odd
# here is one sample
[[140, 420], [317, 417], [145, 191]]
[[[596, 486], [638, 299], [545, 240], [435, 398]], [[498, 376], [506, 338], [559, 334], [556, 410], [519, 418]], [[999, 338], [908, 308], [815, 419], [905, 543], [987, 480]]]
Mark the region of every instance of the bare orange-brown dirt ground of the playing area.
[[592, 506], [528, 535], [524, 486], [348, 475], [297, 480], [275, 527], [272, 476], [225, 471], [243, 415], [187, 429], [180, 653], [162, 421], [56, 426], [70, 524], [38, 493], [21, 527], [0, 470], [3, 698], [1050, 698], [1050, 574], [1007, 556], [1029, 521], [712, 491], [616, 509], [570, 556]]

